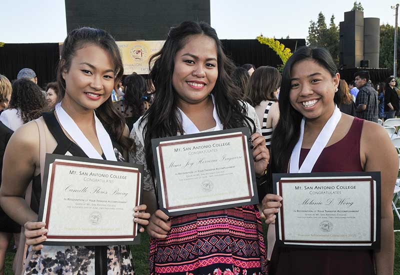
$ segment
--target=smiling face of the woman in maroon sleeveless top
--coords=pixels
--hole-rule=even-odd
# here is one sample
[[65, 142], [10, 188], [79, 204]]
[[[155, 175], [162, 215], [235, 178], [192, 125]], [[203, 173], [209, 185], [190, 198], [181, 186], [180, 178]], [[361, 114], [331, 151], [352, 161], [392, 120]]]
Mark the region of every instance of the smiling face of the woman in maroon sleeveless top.
[[330, 117], [339, 74], [329, 71], [312, 59], [295, 63], [291, 68], [290, 104], [307, 119]]

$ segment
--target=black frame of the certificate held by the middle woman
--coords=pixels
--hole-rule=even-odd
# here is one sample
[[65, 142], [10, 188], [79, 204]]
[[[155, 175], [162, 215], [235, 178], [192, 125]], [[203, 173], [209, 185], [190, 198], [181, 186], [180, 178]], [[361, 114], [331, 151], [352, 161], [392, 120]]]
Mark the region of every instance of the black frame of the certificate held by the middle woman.
[[[202, 203], [203, 205], [198, 205], [198, 207], [196, 207], [195, 209], [175, 210], [175, 211], [171, 212], [171, 211], [169, 211], [168, 207], [163, 207], [163, 205], [164, 205], [163, 202], [164, 202], [165, 198], [164, 198], [164, 194], [161, 191], [162, 190], [161, 182], [160, 182], [160, 180], [156, 180], [157, 193], [158, 193], [158, 207], [160, 210], [162, 210], [164, 213], [166, 213], [169, 216], [176, 216], [176, 215], [183, 215], [183, 214], [188, 214], [188, 213], [198, 213], [198, 212], [226, 209], [226, 208], [231, 208], [231, 207], [236, 207], [236, 206], [241, 206], [241, 205], [250, 205], [250, 204], [258, 203], [256, 177], [255, 177], [255, 173], [254, 173], [254, 163], [252, 161], [253, 157], [252, 157], [252, 150], [251, 150], [251, 142], [248, 140], [249, 137], [251, 136], [251, 134], [247, 127], [151, 139], [156, 178], [158, 179], [161, 176], [161, 174], [159, 172], [160, 160], [157, 157], [157, 147], [160, 145], [160, 142], [168, 141], [168, 142], [173, 142], [173, 143], [175, 143], [175, 142], [179, 143], [183, 139], [190, 139], [190, 138], [196, 138], [196, 137], [212, 138], [212, 136], [215, 136], [215, 135], [235, 133], [235, 132], [241, 132], [241, 134], [243, 135], [243, 146], [246, 146], [246, 148], [247, 148], [246, 151], [248, 152], [248, 154], [245, 154], [245, 156], [247, 157], [246, 161], [247, 161], [247, 159], [249, 160], [248, 161], [249, 165], [247, 166], [246, 171], [248, 173], [247, 175], [251, 175], [251, 179], [249, 178], [248, 184], [251, 184], [252, 190], [253, 190], [253, 195], [251, 197], [249, 197], [250, 200], [247, 202], [232, 202], [232, 203], [228, 203], [228, 204], [212, 205], [212, 206], [207, 206], [206, 204]], [[193, 141], [193, 142], [195, 142], [195, 141]], [[162, 159], [161, 159], [161, 161], [162, 161]], [[163, 183], [165, 185], [165, 181]], [[182, 206], [181, 208], [184, 208], [184, 206]]]

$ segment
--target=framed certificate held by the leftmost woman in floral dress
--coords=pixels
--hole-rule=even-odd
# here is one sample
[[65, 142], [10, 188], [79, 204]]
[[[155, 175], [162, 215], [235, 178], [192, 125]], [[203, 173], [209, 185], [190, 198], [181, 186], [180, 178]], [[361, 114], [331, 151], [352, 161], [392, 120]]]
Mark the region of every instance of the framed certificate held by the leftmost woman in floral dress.
[[[38, 221], [45, 245], [134, 244], [142, 166], [46, 154]], [[134, 241], [135, 240], [135, 241]]]

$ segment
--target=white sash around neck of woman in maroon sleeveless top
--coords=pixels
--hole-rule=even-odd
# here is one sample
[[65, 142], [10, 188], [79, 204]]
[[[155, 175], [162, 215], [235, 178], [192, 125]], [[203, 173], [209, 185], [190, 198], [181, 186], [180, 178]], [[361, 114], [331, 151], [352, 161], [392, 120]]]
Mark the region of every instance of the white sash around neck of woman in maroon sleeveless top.
[[311, 172], [316, 160], [321, 154], [323, 148], [325, 148], [326, 144], [328, 143], [329, 138], [332, 136], [332, 133], [336, 128], [337, 123], [340, 120], [340, 117], [341, 117], [341, 112], [339, 108], [336, 106], [334, 108], [332, 115], [330, 116], [328, 121], [326, 121], [321, 132], [318, 134], [318, 137], [315, 139], [314, 144], [312, 144], [311, 149], [309, 150], [307, 156], [305, 157], [303, 163], [301, 164], [301, 167], [298, 168], [301, 144], [303, 143], [303, 137], [304, 137], [304, 123], [305, 123], [305, 118], [303, 117], [301, 119], [300, 137], [298, 138], [298, 141], [294, 146], [293, 151], [291, 152], [289, 173]]

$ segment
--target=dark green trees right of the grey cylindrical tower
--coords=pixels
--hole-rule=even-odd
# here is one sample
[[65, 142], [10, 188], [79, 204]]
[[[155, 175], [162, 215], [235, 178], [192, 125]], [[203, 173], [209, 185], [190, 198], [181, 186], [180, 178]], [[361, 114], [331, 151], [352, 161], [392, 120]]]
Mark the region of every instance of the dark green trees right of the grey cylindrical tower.
[[[400, 28], [397, 28], [397, 34], [400, 34]], [[392, 68], [393, 67], [393, 48], [394, 48], [394, 26], [389, 24], [380, 25], [379, 34], [379, 67]], [[397, 35], [397, 62], [400, 56], [400, 37]], [[397, 65], [397, 73], [400, 72]]]

